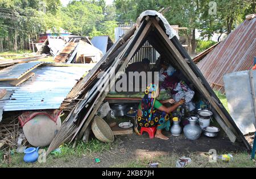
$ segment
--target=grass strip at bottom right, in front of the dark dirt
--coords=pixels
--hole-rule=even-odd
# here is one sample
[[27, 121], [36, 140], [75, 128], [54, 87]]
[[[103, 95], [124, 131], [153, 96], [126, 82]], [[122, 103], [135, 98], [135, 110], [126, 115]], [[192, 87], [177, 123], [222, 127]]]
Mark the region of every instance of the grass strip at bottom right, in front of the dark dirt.
[[[153, 157], [151, 159], [133, 159], [127, 161], [127, 163], [113, 165], [112, 167], [121, 168], [142, 168], [147, 167], [148, 163], [159, 163], [159, 168], [170, 168], [176, 167], [176, 161], [179, 160], [179, 156], [176, 153], [171, 153], [170, 155]], [[192, 162], [187, 165], [188, 168], [255, 168], [255, 161], [250, 160], [250, 155], [247, 153], [237, 153], [233, 154], [234, 160], [226, 163], [224, 161], [217, 161], [217, 163], [209, 162], [208, 153], [191, 153], [190, 157]]]

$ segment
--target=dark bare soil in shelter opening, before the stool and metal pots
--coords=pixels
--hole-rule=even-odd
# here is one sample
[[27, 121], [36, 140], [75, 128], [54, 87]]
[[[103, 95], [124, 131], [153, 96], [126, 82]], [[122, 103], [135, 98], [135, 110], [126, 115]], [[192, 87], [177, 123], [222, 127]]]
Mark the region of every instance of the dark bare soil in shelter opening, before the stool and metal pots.
[[135, 134], [123, 136], [119, 138], [122, 144], [129, 148], [129, 151], [146, 150], [149, 152], [176, 152], [176, 153], [191, 153], [191, 152], [209, 152], [210, 149], [216, 149], [217, 152], [239, 152], [246, 151], [246, 147], [242, 143], [232, 143], [226, 136], [218, 136], [216, 138], [208, 138], [201, 135], [197, 140], [185, 139], [182, 134], [180, 136], [172, 136], [170, 132], [165, 134], [170, 139], [149, 139], [144, 133], [142, 136]]

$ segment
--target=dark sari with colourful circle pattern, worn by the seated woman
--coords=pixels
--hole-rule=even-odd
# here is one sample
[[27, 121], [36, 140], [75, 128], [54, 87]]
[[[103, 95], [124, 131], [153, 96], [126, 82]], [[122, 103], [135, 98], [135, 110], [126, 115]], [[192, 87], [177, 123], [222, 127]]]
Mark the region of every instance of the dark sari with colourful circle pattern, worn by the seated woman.
[[150, 84], [144, 91], [145, 94], [141, 102], [142, 116], [136, 116], [138, 130], [140, 130], [141, 127], [154, 126], [158, 126], [158, 130], [166, 129], [168, 131], [170, 129], [170, 115], [164, 111], [154, 109], [157, 90], [157, 85]]

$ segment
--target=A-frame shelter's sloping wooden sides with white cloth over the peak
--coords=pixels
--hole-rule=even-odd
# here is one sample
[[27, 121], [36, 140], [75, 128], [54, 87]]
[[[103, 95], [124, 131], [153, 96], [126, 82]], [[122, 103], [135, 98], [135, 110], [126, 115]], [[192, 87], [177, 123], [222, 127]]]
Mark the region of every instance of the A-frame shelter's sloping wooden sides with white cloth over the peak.
[[[179, 43], [166, 18], [156, 11], [149, 10], [144, 11], [139, 16], [137, 24], [115, 42], [113, 47], [102, 57], [101, 61], [75, 87], [81, 89], [80, 99], [83, 100], [80, 100], [67, 116], [60, 131], [52, 140], [47, 154], [65, 141], [72, 142], [75, 140], [76, 142], [82, 138], [86, 128], [108, 94], [104, 91], [104, 88], [109, 88], [109, 86], [104, 86], [101, 90], [98, 90], [97, 87], [104, 85], [106, 81], [110, 81], [110, 85], [113, 84], [113, 78], [105, 78], [110, 76], [110, 69], [114, 68], [115, 72], [123, 72], [130, 59], [146, 40], [161, 55], [171, 59], [170, 63], [179, 68], [185, 78], [194, 85], [196, 92], [201, 95], [205, 102], [209, 103], [214, 118], [226, 132], [229, 139], [232, 142], [236, 140], [243, 141], [247, 149], [251, 149], [249, 143], [247, 143], [229, 113], [210, 88], [200, 70]], [[97, 74], [100, 72], [104, 72], [104, 75], [101, 78], [97, 78]], [[75, 98], [78, 98], [78, 95]]]

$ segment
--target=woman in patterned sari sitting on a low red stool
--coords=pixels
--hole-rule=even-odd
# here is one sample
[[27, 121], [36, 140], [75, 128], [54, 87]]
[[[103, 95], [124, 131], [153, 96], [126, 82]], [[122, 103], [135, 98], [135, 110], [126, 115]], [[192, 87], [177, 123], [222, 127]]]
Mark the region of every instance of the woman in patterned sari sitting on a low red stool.
[[[174, 99], [167, 99], [164, 101], [158, 101], [156, 98], [159, 95], [159, 88], [157, 85], [150, 84], [145, 90], [145, 95], [142, 102], [139, 103], [138, 113], [136, 116], [136, 121], [138, 128], [141, 127], [154, 127], [156, 128], [155, 138], [168, 140], [167, 136], [162, 134], [162, 130], [170, 129], [170, 113], [175, 111], [176, 108], [182, 105], [185, 100], [181, 99], [179, 102], [175, 103]], [[164, 103], [174, 104], [171, 107], [166, 107]]]

